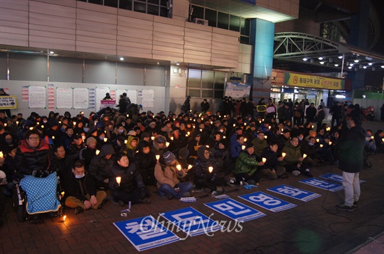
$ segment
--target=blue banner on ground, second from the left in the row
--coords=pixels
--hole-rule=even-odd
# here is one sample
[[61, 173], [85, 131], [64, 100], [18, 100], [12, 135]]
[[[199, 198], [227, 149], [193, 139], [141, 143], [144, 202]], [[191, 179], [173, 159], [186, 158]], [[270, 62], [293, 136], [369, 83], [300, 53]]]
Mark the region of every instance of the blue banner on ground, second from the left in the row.
[[205, 232], [216, 232], [223, 228], [219, 223], [209, 219], [192, 207], [164, 212], [161, 216], [170, 221], [173, 225], [176, 225], [179, 230], [182, 230], [192, 237]]

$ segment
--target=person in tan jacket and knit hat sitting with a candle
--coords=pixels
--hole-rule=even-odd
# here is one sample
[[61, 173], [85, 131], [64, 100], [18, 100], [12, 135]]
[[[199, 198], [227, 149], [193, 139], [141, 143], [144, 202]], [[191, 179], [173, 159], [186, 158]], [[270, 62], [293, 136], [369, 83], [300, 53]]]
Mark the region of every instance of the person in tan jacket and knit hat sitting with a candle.
[[177, 162], [175, 154], [165, 152], [155, 166], [154, 175], [157, 180], [158, 196], [172, 198], [191, 197], [191, 182], [180, 182], [185, 177], [187, 168]]

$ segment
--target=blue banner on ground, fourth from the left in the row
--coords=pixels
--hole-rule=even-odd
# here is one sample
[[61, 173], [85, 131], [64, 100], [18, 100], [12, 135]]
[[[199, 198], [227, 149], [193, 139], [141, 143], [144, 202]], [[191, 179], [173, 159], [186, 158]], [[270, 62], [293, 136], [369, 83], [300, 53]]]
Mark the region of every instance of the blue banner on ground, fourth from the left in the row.
[[262, 191], [242, 195], [239, 196], [239, 198], [242, 198], [272, 212], [280, 212], [286, 209], [290, 209], [292, 207], [296, 207], [296, 205], [294, 204], [291, 204], [274, 196], [270, 196]]

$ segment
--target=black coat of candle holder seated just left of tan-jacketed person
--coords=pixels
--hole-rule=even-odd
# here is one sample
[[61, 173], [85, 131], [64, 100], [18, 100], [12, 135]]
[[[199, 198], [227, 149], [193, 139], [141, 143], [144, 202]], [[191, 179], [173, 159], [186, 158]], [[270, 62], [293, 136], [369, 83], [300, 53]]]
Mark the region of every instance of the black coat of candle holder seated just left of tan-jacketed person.
[[[112, 191], [132, 193], [135, 189], [145, 188], [140, 172], [136, 170], [135, 164], [130, 163], [128, 167], [122, 167], [115, 162], [110, 170], [108, 187]], [[117, 184], [116, 177], [121, 177]]]

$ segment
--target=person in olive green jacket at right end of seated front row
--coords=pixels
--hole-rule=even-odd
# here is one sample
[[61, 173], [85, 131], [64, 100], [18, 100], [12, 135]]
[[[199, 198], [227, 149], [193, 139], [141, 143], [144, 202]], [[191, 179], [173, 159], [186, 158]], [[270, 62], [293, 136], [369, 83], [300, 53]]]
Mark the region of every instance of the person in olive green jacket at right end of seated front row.
[[293, 136], [290, 138], [289, 144], [285, 145], [281, 152], [285, 152], [286, 156], [281, 161], [281, 166], [286, 168], [288, 172], [293, 173], [293, 175], [304, 175], [306, 177], [313, 177], [309, 173], [309, 168], [307, 164], [304, 163], [304, 157], [300, 152], [299, 138]]

